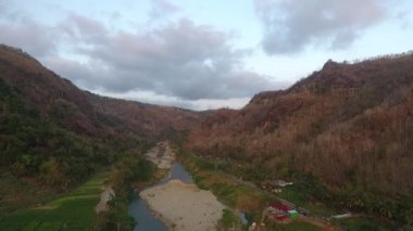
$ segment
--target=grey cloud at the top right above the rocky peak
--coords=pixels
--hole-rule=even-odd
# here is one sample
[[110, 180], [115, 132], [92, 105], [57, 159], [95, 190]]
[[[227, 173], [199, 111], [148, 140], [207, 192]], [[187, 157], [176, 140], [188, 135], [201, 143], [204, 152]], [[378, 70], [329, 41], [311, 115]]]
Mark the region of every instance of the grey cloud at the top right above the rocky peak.
[[254, 0], [264, 26], [267, 54], [296, 53], [308, 47], [342, 49], [363, 29], [387, 16], [379, 0]]

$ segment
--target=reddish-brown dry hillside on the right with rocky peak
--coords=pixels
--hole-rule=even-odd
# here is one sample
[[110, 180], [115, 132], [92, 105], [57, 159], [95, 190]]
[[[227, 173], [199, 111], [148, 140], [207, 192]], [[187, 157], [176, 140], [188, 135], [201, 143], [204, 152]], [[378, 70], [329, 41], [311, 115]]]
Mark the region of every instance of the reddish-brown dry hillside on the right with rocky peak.
[[243, 179], [295, 179], [336, 206], [413, 222], [413, 55], [328, 61], [287, 90], [210, 115], [187, 147]]

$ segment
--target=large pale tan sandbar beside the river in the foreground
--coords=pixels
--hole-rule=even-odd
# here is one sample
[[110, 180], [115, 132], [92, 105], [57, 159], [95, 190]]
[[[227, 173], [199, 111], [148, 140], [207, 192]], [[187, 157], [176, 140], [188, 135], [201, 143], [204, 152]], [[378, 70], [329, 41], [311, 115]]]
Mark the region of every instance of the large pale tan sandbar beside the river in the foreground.
[[179, 180], [143, 190], [140, 196], [172, 230], [216, 230], [225, 208], [210, 191]]

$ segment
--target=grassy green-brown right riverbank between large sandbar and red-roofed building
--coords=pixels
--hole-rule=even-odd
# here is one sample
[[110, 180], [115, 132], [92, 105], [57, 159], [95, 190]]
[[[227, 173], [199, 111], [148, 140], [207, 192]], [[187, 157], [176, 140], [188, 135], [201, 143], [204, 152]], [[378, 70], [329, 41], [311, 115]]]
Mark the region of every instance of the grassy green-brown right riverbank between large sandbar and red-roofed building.
[[[273, 221], [272, 216], [263, 213], [271, 203], [279, 200], [276, 195], [260, 190], [250, 182], [225, 174], [216, 169], [213, 163], [209, 163], [197, 156], [178, 153], [177, 158], [193, 176], [195, 182], [199, 188], [211, 190], [230, 209], [243, 211], [247, 215], [249, 224], [252, 222], [265, 224], [263, 227], [256, 226], [254, 229], [335, 230], [334, 227], [309, 222], [304, 219], [298, 219], [290, 223], [276, 223]], [[228, 222], [226, 227], [234, 226], [236, 226], [236, 220]]]

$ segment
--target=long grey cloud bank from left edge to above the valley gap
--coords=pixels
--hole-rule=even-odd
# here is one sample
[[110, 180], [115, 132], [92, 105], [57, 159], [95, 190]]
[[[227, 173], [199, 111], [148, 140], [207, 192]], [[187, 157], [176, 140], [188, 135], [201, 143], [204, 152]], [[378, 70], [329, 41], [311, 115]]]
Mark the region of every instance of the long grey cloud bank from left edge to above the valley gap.
[[[158, 13], [178, 10], [157, 2]], [[199, 101], [248, 98], [277, 87], [243, 68], [249, 51], [233, 48], [228, 34], [188, 18], [135, 30], [111, 30], [74, 12], [52, 26], [26, 18], [2, 18], [0, 42], [23, 48], [89, 90]]]

